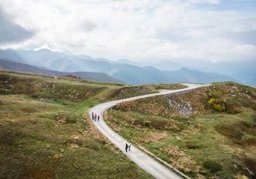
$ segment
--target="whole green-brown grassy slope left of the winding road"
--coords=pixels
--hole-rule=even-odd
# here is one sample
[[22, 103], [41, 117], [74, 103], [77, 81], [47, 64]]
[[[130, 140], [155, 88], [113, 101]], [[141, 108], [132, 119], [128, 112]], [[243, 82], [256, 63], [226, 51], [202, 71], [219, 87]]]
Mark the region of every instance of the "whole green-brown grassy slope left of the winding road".
[[[0, 73], [0, 178], [151, 178], [109, 144], [87, 109], [121, 86]], [[59, 123], [70, 113], [76, 123]]]

